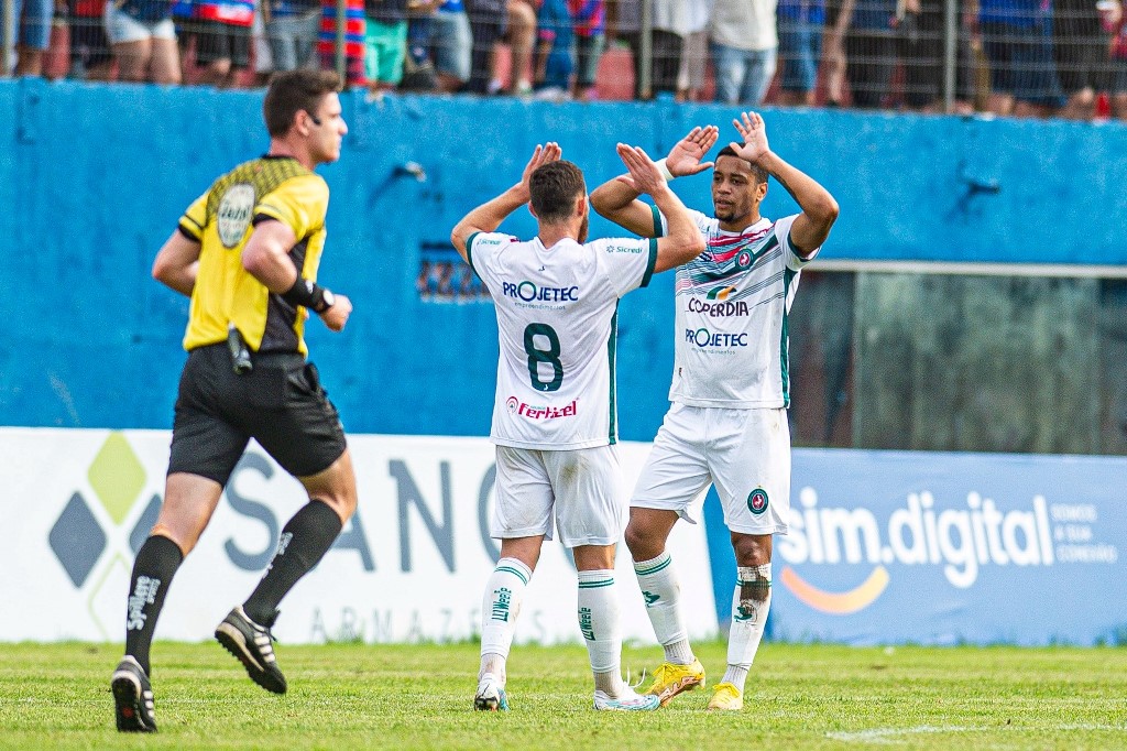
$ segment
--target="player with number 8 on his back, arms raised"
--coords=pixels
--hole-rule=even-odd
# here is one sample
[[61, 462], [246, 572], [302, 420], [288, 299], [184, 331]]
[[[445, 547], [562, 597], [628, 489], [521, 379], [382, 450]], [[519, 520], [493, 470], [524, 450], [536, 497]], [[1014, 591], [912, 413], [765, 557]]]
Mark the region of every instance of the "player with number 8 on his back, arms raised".
[[[578, 620], [595, 677], [595, 709], [649, 710], [657, 697], [622, 681], [614, 548], [624, 515], [614, 396], [619, 298], [655, 272], [704, 248], [687, 210], [657, 166], [619, 144], [633, 195], [649, 194], [666, 218], [659, 239], [587, 242], [583, 173], [556, 143], [536, 147], [521, 182], [454, 228], [451, 240], [492, 294], [500, 359], [491, 439], [497, 444], [490, 533], [502, 540], [481, 607], [477, 709], [507, 709], [506, 661], [525, 587], [553, 529], [575, 555]], [[527, 204], [538, 235], [495, 230]]]

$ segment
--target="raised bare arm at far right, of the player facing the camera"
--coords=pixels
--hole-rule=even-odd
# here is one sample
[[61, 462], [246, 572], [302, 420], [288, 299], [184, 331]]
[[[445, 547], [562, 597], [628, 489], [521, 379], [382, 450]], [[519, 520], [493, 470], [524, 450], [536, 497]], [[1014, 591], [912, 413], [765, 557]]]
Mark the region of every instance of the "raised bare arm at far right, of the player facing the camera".
[[790, 228], [790, 245], [799, 256], [809, 256], [829, 237], [829, 228], [837, 219], [837, 202], [817, 180], [771, 151], [766, 125], [758, 113], [745, 112], [731, 122], [744, 139], [743, 143], [730, 144], [735, 152], [765, 169], [802, 209]]

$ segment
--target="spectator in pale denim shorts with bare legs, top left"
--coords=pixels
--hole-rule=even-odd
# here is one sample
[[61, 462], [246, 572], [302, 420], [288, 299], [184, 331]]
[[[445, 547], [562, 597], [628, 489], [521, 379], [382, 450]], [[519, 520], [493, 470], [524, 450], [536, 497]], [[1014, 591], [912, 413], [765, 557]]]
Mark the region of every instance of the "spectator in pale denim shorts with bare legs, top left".
[[103, 20], [121, 80], [180, 82], [176, 26], [168, 0], [112, 0], [106, 2]]

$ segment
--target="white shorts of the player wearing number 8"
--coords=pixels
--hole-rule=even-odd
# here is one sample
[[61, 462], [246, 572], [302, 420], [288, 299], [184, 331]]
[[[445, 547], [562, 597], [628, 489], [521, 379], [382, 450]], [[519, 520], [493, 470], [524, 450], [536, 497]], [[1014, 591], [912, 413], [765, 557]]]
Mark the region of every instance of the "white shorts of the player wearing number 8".
[[625, 504], [613, 445], [571, 451], [497, 447], [497, 481], [489, 534], [498, 539], [559, 531], [564, 547], [615, 545]]

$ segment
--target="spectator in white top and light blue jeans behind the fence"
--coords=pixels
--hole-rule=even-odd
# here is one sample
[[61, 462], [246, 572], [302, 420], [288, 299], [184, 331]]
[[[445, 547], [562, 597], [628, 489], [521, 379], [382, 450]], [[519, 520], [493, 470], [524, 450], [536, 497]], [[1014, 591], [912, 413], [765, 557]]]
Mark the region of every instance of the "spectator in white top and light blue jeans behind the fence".
[[777, 0], [717, 0], [712, 10], [716, 100], [757, 107], [774, 77], [779, 53]]

